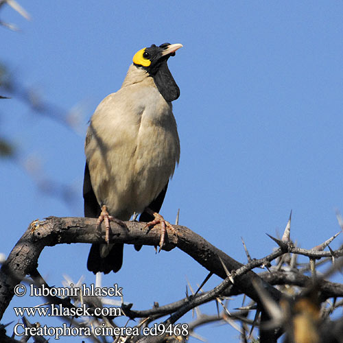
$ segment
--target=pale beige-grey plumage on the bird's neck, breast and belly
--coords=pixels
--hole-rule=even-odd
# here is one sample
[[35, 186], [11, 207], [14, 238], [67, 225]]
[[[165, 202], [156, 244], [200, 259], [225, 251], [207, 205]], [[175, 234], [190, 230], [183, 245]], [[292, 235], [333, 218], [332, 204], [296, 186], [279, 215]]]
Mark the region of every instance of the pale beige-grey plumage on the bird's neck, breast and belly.
[[171, 107], [149, 74], [132, 64], [119, 91], [95, 110], [86, 161], [97, 201], [113, 217], [141, 213], [173, 175], [180, 141]]

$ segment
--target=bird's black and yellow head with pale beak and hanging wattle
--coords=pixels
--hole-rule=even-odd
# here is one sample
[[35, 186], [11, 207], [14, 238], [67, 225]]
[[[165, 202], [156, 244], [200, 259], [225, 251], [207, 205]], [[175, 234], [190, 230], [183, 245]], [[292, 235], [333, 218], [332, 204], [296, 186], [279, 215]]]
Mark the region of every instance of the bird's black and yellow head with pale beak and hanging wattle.
[[175, 56], [175, 51], [180, 47], [182, 44], [163, 43], [159, 47], [153, 44], [137, 51], [133, 56], [134, 66], [145, 69], [154, 78], [158, 91], [167, 102], [178, 99], [180, 95], [180, 89], [167, 66], [168, 58]]

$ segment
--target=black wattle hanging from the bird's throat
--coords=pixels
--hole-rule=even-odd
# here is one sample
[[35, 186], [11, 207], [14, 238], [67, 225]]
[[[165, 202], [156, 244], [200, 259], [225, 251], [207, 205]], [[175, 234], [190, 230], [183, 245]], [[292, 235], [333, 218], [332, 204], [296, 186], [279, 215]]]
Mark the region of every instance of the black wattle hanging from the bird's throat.
[[171, 75], [167, 61], [163, 62], [155, 75], [152, 75], [158, 91], [165, 98], [166, 102], [172, 102], [180, 96], [180, 88]]

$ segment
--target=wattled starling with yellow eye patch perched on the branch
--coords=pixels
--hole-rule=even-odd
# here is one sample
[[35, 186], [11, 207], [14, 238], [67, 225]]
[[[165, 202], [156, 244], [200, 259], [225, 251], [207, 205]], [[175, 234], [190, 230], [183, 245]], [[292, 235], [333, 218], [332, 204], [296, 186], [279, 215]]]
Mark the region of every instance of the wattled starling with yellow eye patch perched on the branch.
[[[108, 244], [110, 221], [126, 226], [123, 221], [141, 213], [141, 222], [170, 226], [158, 211], [180, 159], [171, 104], [180, 89], [167, 65], [180, 47], [163, 43], [139, 50], [119, 91], [105, 97], [91, 117], [84, 144], [84, 215], [97, 217], [97, 227], [105, 222], [107, 243], [91, 246], [87, 268], [94, 274], [118, 272], [123, 263], [123, 244]], [[161, 232], [160, 250], [163, 243]]]

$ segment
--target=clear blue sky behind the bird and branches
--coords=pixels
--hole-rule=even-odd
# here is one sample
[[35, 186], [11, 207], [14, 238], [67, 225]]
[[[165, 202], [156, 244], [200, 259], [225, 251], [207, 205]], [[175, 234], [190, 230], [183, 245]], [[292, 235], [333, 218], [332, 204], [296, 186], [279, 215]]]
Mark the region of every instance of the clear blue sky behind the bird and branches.
[[[38, 191], [16, 163], [0, 161], [5, 255], [32, 220], [82, 216], [86, 123], [97, 104], [120, 88], [134, 53], [165, 42], [184, 47], [169, 60], [181, 91], [174, 102], [181, 158], [161, 214], [174, 222], [180, 208], [180, 224], [242, 262], [241, 237], [252, 257], [267, 255], [274, 242], [265, 233], [281, 233], [291, 209], [291, 235], [303, 248], [340, 230], [335, 209], [343, 211], [342, 2], [19, 3], [32, 20], [11, 8], [1, 11], [3, 21], [21, 28], [0, 27], [1, 62], [45, 101], [64, 110], [79, 106], [83, 116], [75, 133], [18, 99], [1, 101], [0, 134], [14, 141], [21, 161], [34, 156], [47, 178], [71, 185], [77, 194], [68, 206]], [[75, 281], [84, 275], [92, 283], [88, 248], [46, 248], [38, 269], [50, 285], [61, 287], [63, 274]], [[124, 300], [147, 309], [154, 301], [182, 298], [187, 279], [196, 288], [205, 276], [204, 268], [176, 249], [155, 255], [153, 248], [138, 253], [126, 246], [123, 268], [103, 282], [118, 283]], [[206, 289], [219, 282], [213, 277]], [[19, 306], [20, 300], [12, 303]], [[204, 312], [214, 314], [215, 305]], [[3, 322], [13, 319], [9, 308]], [[213, 324], [198, 333], [209, 342], [237, 340], [237, 331]]]

